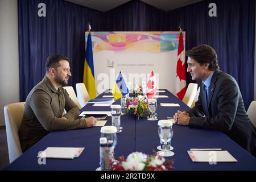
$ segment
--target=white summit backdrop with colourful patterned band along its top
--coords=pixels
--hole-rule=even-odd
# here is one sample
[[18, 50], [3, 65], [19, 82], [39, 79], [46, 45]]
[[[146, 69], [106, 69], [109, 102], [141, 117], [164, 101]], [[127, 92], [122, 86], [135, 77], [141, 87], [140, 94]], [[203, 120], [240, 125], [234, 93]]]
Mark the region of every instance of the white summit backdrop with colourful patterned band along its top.
[[[145, 37], [134, 40], [129, 35]], [[113, 88], [120, 71], [132, 85], [141, 85], [154, 71], [158, 88], [174, 93], [178, 39], [179, 32], [92, 32], [97, 92]]]

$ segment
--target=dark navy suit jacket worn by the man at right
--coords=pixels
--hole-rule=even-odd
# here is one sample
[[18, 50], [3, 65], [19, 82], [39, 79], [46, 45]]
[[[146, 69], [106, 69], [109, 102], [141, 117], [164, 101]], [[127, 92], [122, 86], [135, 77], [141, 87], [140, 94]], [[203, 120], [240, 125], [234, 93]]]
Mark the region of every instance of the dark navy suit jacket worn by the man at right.
[[214, 71], [209, 86], [208, 107], [202, 103], [202, 83], [199, 100], [188, 111], [191, 117], [189, 126], [219, 129], [256, 156], [256, 129], [246, 114], [236, 80], [227, 73]]

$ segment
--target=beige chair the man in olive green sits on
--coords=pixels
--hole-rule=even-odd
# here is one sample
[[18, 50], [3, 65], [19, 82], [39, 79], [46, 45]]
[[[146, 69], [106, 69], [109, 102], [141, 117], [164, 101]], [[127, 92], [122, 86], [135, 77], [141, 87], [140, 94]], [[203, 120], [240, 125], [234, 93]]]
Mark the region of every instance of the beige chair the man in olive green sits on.
[[25, 102], [17, 102], [6, 105], [3, 109], [10, 163], [23, 154], [19, 140], [19, 127], [22, 122], [24, 104]]

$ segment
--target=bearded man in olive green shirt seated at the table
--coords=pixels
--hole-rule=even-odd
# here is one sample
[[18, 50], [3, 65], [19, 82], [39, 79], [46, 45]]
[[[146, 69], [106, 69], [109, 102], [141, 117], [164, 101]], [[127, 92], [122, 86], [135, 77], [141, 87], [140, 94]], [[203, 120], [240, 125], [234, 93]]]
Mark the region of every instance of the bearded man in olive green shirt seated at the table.
[[[52, 130], [71, 130], [96, 125], [94, 117], [76, 119], [79, 107], [62, 87], [71, 77], [69, 59], [61, 55], [49, 56], [46, 76], [28, 94], [19, 138], [22, 151], [42, 139]], [[64, 109], [67, 111], [63, 114]]]

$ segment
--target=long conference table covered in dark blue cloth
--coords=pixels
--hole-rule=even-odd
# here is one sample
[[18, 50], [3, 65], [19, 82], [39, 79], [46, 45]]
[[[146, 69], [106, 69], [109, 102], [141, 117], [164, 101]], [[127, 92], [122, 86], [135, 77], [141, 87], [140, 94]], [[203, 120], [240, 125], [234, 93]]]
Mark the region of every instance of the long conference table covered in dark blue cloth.
[[[166, 89], [158, 92], [168, 98], [158, 98], [156, 110], [158, 119], [172, 117], [177, 110], [186, 111], [190, 108], [180, 101], [174, 94]], [[111, 95], [109, 92], [100, 94], [97, 98]], [[160, 103], [175, 103], [178, 107], [162, 107]], [[120, 104], [120, 100], [114, 102]], [[110, 111], [110, 107], [85, 105], [81, 111]], [[111, 125], [112, 118], [108, 117], [106, 125]], [[105, 125], [105, 126], [106, 126]], [[121, 116], [121, 133], [117, 133], [117, 146], [114, 149], [115, 156], [125, 156], [131, 152], [139, 151], [144, 154], [152, 154], [160, 144], [158, 136], [158, 121], [148, 121], [147, 118], [137, 118], [126, 114]], [[174, 170], [256, 170], [256, 158], [240, 147], [236, 142], [219, 130], [196, 129], [188, 126], [174, 124], [174, 136], [171, 140], [172, 150], [175, 155], [166, 159], [174, 159]], [[51, 131], [46, 137], [32, 146], [29, 150], [14, 160], [5, 170], [69, 170], [69, 171], [94, 171], [100, 166], [100, 129], [90, 127], [86, 129]], [[46, 159], [46, 164], [39, 164], [37, 155], [39, 151], [47, 147], [84, 147], [79, 158], [74, 159]], [[209, 163], [192, 162], [187, 151], [190, 148], [222, 148], [227, 150], [237, 163]]]

